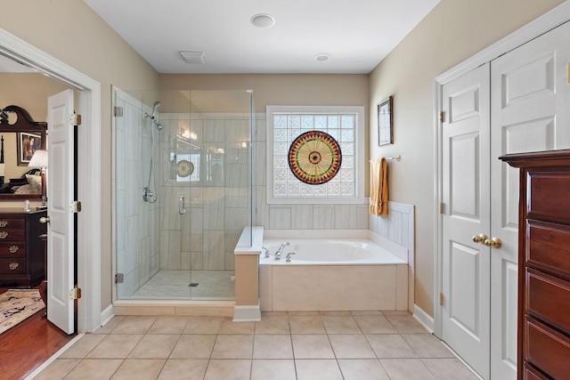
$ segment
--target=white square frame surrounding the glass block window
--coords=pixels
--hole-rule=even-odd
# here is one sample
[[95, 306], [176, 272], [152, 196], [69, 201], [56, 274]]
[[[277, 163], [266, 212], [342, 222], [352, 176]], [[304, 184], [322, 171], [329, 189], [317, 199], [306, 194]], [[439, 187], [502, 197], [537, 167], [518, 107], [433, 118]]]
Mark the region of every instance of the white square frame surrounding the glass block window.
[[[354, 114], [354, 197], [273, 197], [273, 113]], [[362, 205], [364, 198], [364, 107], [363, 106], [266, 106], [265, 107], [266, 180], [265, 196], [268, 205]]]

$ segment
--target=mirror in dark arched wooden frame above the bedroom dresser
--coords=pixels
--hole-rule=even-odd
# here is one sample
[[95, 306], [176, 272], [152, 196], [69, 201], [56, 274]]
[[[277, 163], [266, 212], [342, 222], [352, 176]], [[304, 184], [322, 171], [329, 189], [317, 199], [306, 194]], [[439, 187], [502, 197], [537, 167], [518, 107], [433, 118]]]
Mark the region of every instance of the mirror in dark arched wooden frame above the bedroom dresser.
[[26, 109], [0, 109], [0, 199], [41, 199], [45, 194], [40, 169], [28, 163], [35, 150], [45, 150], [46, 130], [47, 123], [34, 121]]

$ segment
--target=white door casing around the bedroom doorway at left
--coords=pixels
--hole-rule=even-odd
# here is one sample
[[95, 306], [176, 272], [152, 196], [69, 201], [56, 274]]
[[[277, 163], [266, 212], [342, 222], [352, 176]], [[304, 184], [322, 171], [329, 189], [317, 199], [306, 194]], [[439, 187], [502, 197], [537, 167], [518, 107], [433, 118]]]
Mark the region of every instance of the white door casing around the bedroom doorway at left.
[[84, 298], [78, 302], [77, 332], [101, 326], [101, 84], [0, 28], [0, 52], [78, 90], [77, 278]]

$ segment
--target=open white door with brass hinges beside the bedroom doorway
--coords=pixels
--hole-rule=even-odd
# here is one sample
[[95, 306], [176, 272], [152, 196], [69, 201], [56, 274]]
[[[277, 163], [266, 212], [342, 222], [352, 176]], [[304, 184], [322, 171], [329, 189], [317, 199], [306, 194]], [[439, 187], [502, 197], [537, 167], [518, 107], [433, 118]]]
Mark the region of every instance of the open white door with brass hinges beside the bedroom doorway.
[[66, 90], [47, 100], [49, 169], [47, 172], [47, 319], [67, 334], [74, 333], [74, 200], [73, 91]]

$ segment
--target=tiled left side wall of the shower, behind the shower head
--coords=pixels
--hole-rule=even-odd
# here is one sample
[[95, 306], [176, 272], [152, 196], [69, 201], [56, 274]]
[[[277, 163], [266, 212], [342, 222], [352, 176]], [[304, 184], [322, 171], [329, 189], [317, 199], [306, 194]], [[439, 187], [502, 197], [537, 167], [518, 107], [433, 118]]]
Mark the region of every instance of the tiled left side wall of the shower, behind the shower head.
[[[159, 202], [142, 200], [151, 165], [151, 126], [140, 101], [116, 93], [115, 105], [123, 115], [115, 117], [115, 252], [118, 297], [132, 295], [159, 271]], [[155, 136], [157, 136], [155, 131]], [[158, 158], [158, 155], [155, 157]]]

